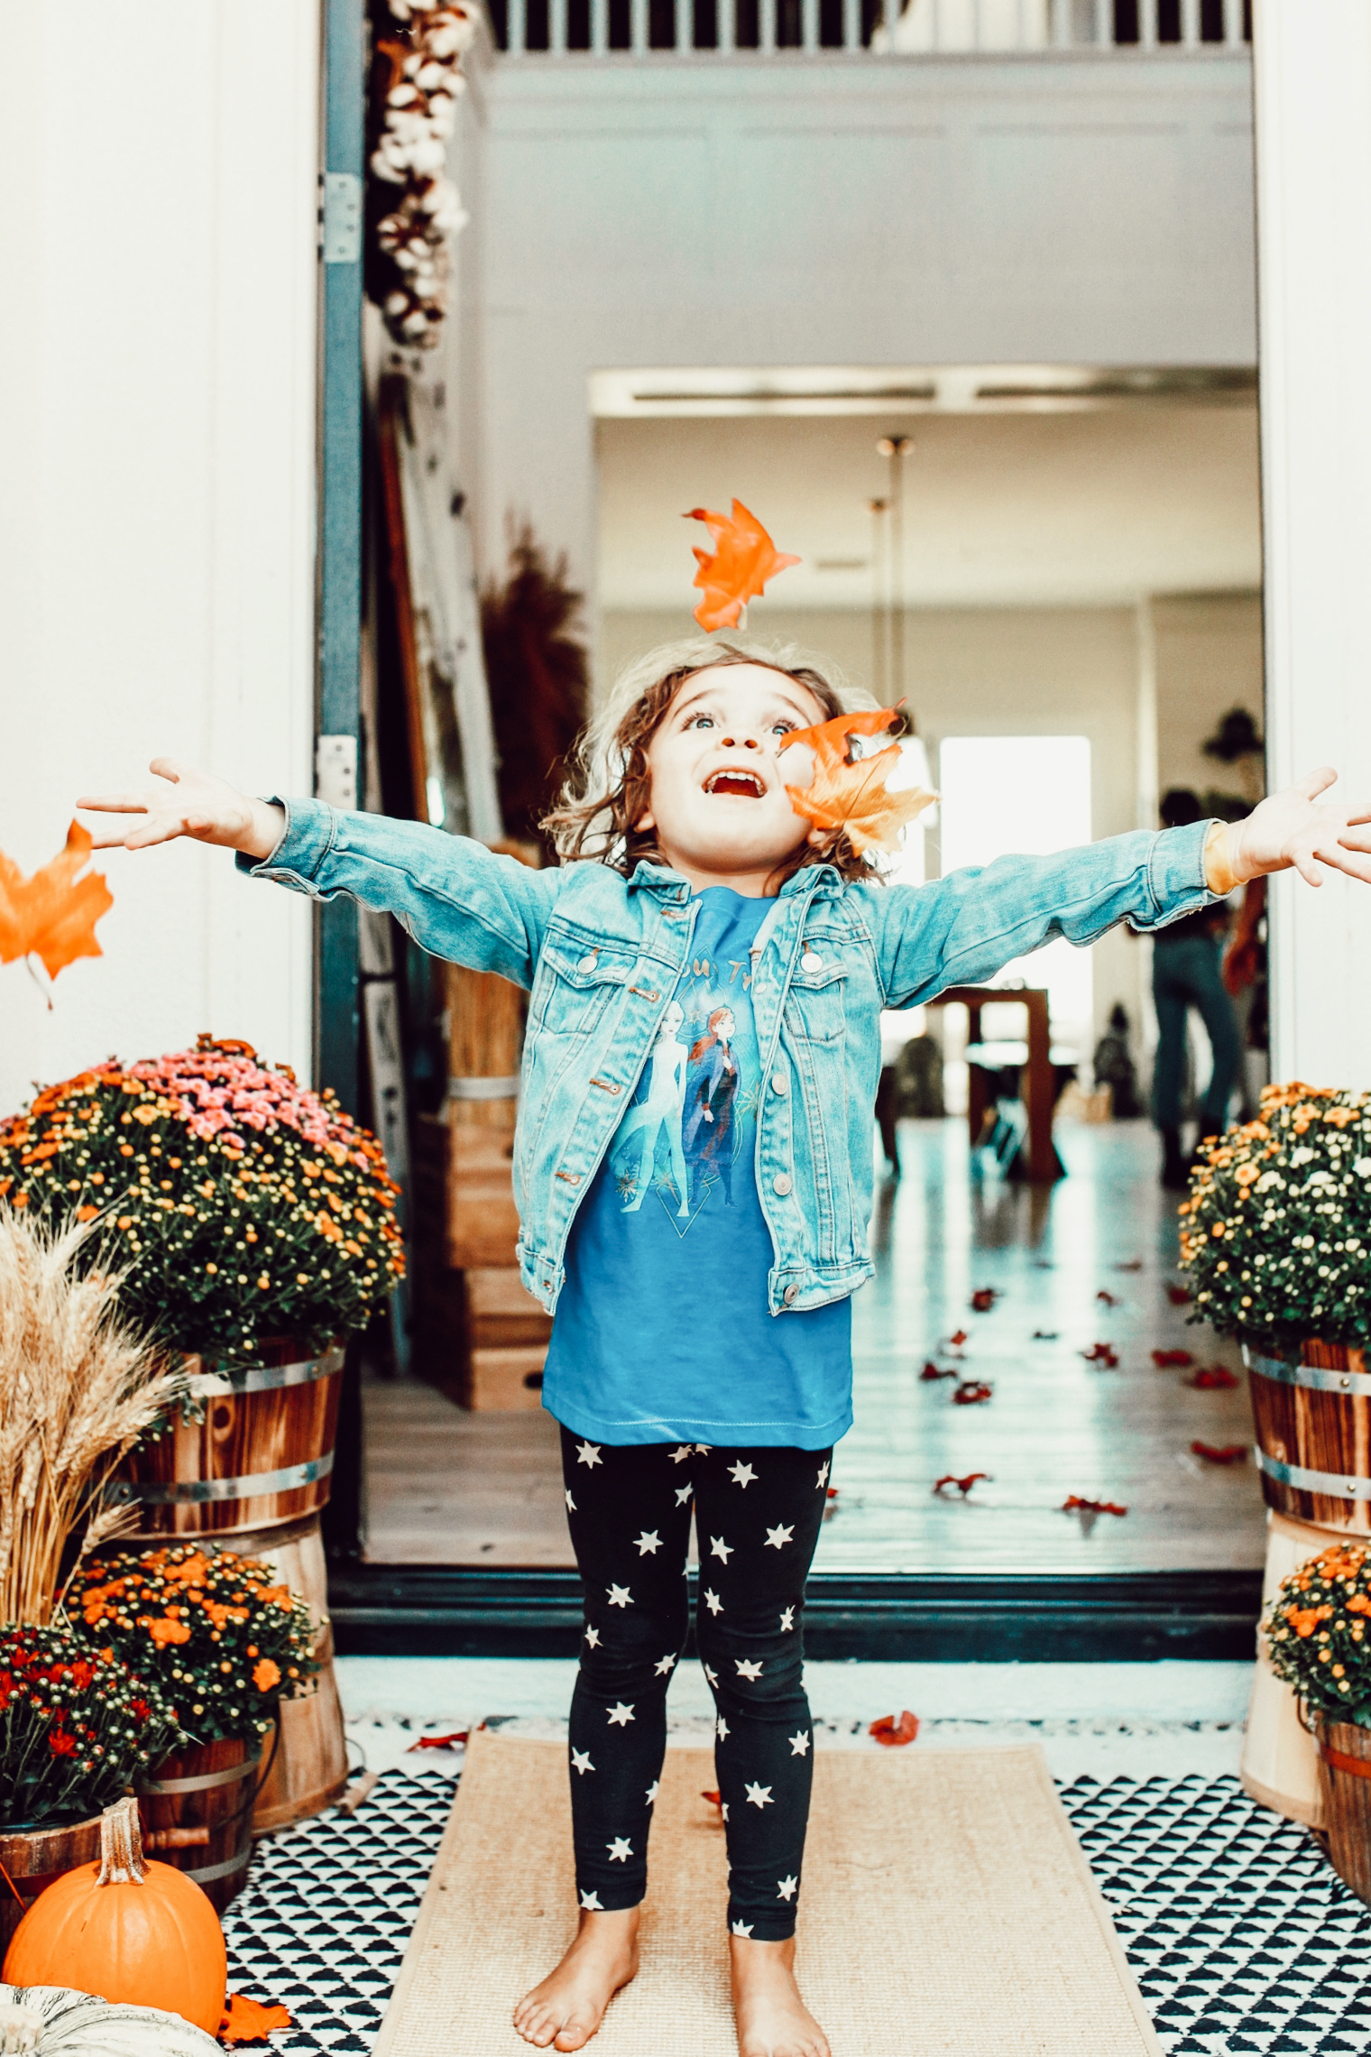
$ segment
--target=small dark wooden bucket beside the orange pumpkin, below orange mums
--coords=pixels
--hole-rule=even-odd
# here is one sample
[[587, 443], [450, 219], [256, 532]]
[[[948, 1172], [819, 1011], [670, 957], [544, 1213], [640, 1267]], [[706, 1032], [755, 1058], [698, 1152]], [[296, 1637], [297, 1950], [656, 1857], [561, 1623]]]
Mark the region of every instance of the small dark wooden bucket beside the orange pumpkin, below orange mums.
[[193, 1878], [220, 1913], [247, 1884], [259, 1783], [257, 1744], [222, 1740], [164, 1757], [138, 1794], [148, 1855]]

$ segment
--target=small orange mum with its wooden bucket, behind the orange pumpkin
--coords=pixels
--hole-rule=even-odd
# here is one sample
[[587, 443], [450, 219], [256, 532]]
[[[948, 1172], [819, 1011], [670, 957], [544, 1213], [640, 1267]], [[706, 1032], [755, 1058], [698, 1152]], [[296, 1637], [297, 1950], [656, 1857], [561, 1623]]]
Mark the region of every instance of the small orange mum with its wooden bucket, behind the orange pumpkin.
[[261, 1738], [319, 1670], [308, 1604], [255, 1557], [179, 1543], [88, 1559], [68, 1611], [177, 1707], [185, 1744], [140, 1781], [144, 1841], [222, 1911], [247, 1880]]

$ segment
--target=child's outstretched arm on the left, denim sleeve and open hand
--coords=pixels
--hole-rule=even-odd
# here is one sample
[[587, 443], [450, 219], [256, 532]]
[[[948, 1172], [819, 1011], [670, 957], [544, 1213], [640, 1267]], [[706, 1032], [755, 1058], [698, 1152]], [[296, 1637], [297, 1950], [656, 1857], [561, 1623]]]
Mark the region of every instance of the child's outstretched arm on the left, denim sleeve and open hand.
[[434, 957], [532, 985], [559, 872], [534, 872], [485, 843], [417, 821], [345, 815], [323, 800], [253, 800], [171, 757], [154, 757], [150, 769], [158, 784], [144, 792], [76, 802], [97, 815], [132, 817], [97, 829], [97, 847], [148, 850], [177, 835], [218, 843], [236, 850], [238, 868], [253, 878], [310, 899], [347, 893], [393, 913]]

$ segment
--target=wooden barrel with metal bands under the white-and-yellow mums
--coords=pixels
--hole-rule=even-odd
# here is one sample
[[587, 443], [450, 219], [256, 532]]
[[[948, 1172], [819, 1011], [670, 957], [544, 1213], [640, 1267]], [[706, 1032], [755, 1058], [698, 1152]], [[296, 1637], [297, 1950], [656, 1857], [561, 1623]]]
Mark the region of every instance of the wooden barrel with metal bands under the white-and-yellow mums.
[[1244, 1343], [1266, 1506], [1297, 1522], [1371, 1535], [1371, 1372], [1365, 1351], [1305, 1343], [1299, 1362]]

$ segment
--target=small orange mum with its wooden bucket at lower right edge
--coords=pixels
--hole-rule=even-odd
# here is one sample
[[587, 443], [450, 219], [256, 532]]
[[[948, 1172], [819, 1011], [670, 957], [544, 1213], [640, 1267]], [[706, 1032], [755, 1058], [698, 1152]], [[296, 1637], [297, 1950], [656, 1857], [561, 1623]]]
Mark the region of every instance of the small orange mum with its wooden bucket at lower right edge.
[[1262, 1617], [1266, 1656], [1295, 1689], [1320, 1751], [1324, 1843], [1371, 1905], [1371, 1551], [1334, 1543], [1299, 1565]]

